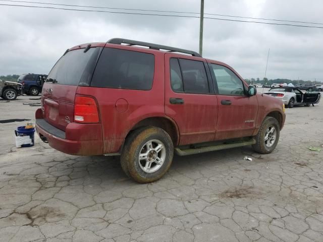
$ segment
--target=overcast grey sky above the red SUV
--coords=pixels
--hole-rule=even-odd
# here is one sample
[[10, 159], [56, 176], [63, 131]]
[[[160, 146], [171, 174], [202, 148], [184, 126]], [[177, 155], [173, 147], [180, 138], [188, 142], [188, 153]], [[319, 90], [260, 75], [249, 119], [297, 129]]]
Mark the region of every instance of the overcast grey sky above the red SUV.
[[[43, 1], [200, 11], [199, 0]], [[323, 23], [323, 1], [205, 0], [204, 13]], [[67, 48], [114, 37], [198, 51], [199, 19], [0, 6], [0, 75], [46, 74]], [[203, 56], [229, 64], [244, 78], [263, 78], [268, 48], [268, 79], [323, 81], [323, 29], [204, 19]]]

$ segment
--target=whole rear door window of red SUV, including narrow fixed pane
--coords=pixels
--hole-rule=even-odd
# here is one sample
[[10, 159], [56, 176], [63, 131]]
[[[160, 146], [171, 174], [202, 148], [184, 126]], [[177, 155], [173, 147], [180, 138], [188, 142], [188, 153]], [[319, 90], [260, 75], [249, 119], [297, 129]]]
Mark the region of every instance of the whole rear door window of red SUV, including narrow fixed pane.
[[171, 86], [175, 92], [208, 93], [203, 62], [191, 59], [170, 59]]

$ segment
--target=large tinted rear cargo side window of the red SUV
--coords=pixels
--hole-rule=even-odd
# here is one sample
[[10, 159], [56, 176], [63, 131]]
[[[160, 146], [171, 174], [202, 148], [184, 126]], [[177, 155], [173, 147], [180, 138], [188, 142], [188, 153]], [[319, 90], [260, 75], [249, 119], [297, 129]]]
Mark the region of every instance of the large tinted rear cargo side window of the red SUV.
[[104, 48], [91, 86], [149, 90], [152, 87], [154, 66], [153, 54]]

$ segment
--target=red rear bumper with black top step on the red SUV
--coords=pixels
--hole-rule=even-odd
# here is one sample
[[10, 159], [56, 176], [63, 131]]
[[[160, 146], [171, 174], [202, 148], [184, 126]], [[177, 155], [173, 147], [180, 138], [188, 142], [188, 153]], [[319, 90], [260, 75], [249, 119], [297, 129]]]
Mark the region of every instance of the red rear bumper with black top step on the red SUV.
[[101, 124], [70, 123], [65, 132], [42, 118], [36, 119], [36, 131], [42, 141], [63, 153], [71, 155], [102, 155]]

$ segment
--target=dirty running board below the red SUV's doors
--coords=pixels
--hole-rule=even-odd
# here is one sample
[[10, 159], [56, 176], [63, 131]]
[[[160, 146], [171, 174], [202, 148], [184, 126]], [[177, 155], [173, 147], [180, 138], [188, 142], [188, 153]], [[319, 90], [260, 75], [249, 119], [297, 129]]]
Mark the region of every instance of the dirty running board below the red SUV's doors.
[[236, 148], [236, 147], [241, 147], [241, 146], [253, 145], [255, 143], [256, 143], [255, 139], [251, 139], [248, 141], [209, 145], [209, 146], [197, 147], [197, 148], [193, 148], [193, 149], [192, 148], [180, 149], [177, 147], [174, 150], [177, 155], [184, 156], [184, 155], [199, 154], [199, 153], [204, 153], [204, 152], [209, 152], [209, 151], [224, 150], [224, 149]]

